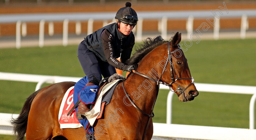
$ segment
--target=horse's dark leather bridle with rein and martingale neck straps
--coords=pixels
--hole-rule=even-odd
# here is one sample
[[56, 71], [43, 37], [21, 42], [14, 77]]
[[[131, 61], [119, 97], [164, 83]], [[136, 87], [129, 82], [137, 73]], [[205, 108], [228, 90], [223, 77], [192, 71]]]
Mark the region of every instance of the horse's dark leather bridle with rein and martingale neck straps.
[[[168, 86], [169, 89], [170, 89], [172, 92], [177, 92], [178, 90], [182, 90], [182, 89], [180, 88], [180, 85], [176, 82], [177, 80], [182, 80], [182, 79], [192, 80], [192, 82], [178, 94], [178, 97], [179, 97], [185, 90], [187, 90], [188, 87], [190, 87], [192, 84], [194, 84], [194, 79], [193, 79], [193, 77], [191, 77], [191, 78], [179, 78], [179, 77], [177, 76], [176, 71], [175, 71], [174, 66], [173, 66], [173, 63], [172, 63], [172, 53], [175, 53], [177, 50], [181, 50], [180, 45], [179, 45], [179, 44], [177, 44], [177, 45], [178, 45], [179, 48], [171, 52], [170, 42], [169, 42], [169, 41], [167, 42], [168, 57], [167, 57], [167, 60], [166, 60], [166, 62], [165, 62], [165, 67], [164, 67], [164, 69], [163, 69], [163, 71], [162, 71], [162, 74], [161, 74], [161, 76], [160, 76], [158, 79], [153, 79], [153, 78], [148, 77], [148, 76], [146, 76], [146, 75], [144, 75], [144, 74], [141, 74], [141, 73], [139, 73], [139, 72], [137, 72], [137, 71], [135, 71], [135, 70], [133, 70], [133, 72], [136, 73], [136, 74], [138, 74], [138, 75], [140, 75], [140, 76], [142, 76], [142, 77], [145, 77], [145, 78], [148, 78], [148, 79], [150, 79], [150, 80], [155, 81], [155, 82], [157, 83], [157, 85], [158, 85], [158, 91], [159, 91], [159, 87], [160, 87], [159, 84], [164, 84], [164, 85]], [[171, 82], [170, 84], [165, 83], [165, 82], [162, 81], [162, 76], [163, 76], [163, 74], [164, 74], [164, 71], [165, 71], [165, 68], [166, 68], [168, 62], [170, 63], [171, 80], [172, 80], [172, 82]], [[174, 73], [176, 79], [174, 79], [173, 73]], [[146, 115], [146, 116], [149, 117], [149, 118], [148, 118], [147, 125], [146, 125], [146, 127], [145, 127], [145, 131], [144, 131], [143, 137], [142, 137], [142, 140], [144, 140], [145, 135], [146, 135], [146, 132], [147, 132], [147, 129], [148, 129], [148, 126], [149, 126], [149, 123], [150, 123], [150, 118], [153, 118], [153, 117], [154, 117], [153, 110], [154, 110], [154, 107], [155, 107], [155, 102], [156, 102], [156, 99], [157, 99], [157, 96], [158, 96], [158, 92], [157, 92], [157, 94], [156, 94], [155, 102], [154, 102], [154, 104], [153, 104], [152, 110], [151, 110], [150, 114], [147, 114], [147, 113], [145, 113], [144, 111], [142, 111], [140, 108], [138, 108], [136, 104], [134, 104], [134, 102], [132, 101], [132, 99], [131, 99], [130, 96], [127, 94], [127, 92], [126, 92], [126, 90], [125, 90], [125, 88], [124, 88], [124, 82], [125, 82], [125, 80], [123, 81], [123, 90], [124, 90], [124, 93], [125, 93], [126, 97], [127, 97], [128, 100], [130, 101], [130, 103], [131, 103], [138, 111], [140, 111], [142, 114], [144, 114], [144, 115]], [[178, 84], [178, 87], [177, 87], [177, 90], [176, 90], [176, 91], [174, 91], [174, 90], [171, 88], [171, 87], [172, 87], [172, 84], [174, 84], [174, 83]], [[184, 94], [185, 94], [185, 93], [184, 93]]]

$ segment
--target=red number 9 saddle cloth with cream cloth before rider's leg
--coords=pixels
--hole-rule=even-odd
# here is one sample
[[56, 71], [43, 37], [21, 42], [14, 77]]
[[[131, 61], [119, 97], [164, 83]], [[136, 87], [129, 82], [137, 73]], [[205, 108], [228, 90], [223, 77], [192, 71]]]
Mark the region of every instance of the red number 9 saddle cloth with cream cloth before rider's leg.
[[[101, 93], [99, 94], [99, 97], [97, 99], [97, 101], [94, 104], [94, 107], [91, 109], [91, 111], [87, 112], [85, 114], [87, 120], [89, 121], [90, 125], [93, 126], [94, 122], [96, 119], [101, 118], [102, 113], [103, 113], [103, 108], [105, 105], [108, 104], [108, 101], [104, 102], [102, 101], [102, 97], [103, 95], [105, 95], [105, 93], [108, 92], [109, 89], [111, 89], [113, 86], [115, 86], [120, 79], [115, 80], [109, 84], [106, 84], [102, 90]], [[61, 106], [59, 109], [59, 124], [60, 124], [60, 128], [80, 128], [83, 125], [85, 125], [85, 119], [79, 120], [76, 118], [76, 112], [75, 110], [73, 110], [69, 116], [67, 116], [68, 112], [70, 111], [70, 109], [72, 109], [73, 107], [73, 91], [74, 91], [74, 86], [70, 87], [61, 102]], [[77, 95], [75, 95], [77, 96]], [[76, 102], [76, 101], [75, 101]], [[103, 102], [103, 103], [102, 103]], [[107, 102], [107, 104], [105, 104]], [[110, 101], [109, 101], [110, 102]], [[101, 105], [102, 103], [102, 105]], [[76, 107], [77, 108], [77, 107]], [[84, 126], [87, 127], [87, 126]]]

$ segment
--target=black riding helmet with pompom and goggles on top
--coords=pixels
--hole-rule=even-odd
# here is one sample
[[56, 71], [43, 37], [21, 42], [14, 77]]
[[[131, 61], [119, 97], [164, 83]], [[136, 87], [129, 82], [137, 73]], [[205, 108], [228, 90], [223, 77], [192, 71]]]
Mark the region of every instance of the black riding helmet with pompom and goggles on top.
[[135, 10], [131, 8], [131, 3], [126, 2], [125, 6], [123, 8], [120, 8], [117, 13], [115, 19], [119, 20], [120, 22], [123, 22], [125, 24], [133, 25], [135, 26], [138, 22], [137, 13]]

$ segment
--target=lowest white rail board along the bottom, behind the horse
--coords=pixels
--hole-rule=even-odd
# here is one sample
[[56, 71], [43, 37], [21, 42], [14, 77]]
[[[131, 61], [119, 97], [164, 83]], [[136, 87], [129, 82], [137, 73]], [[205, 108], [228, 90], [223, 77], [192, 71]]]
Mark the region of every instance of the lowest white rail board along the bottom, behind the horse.
[[[9, 124], [18, 114], [0, 113], [0, 134], [13, 135]], [[153, 136], [211, 140], [256, 140], [256, 129], [153, 123]]]

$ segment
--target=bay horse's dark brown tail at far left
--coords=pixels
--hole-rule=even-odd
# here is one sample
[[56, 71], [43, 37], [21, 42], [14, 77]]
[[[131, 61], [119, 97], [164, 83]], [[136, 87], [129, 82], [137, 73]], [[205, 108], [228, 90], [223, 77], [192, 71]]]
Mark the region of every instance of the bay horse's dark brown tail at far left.
[[13, 131], [14, 131], [14, 134], [17, 136], [17, 140], [23, 140], [24, 139], [24, 135], [26, 134], [26, 131], [27, 131], [27, 120], [28, 120], [28, 114], [29, 114], [29, 111], [30, 111], [32, 101], [34, 100], [36, 95], [43, 88], [35, 91], [33, 94], [31, 94], [27, 98], [27, 101], [24, 103], [23, 108], [22, 108], [18, 118], [16, 118], [16, 119], [12, 118], [11, 119], [11, 124], [14, 126]]

